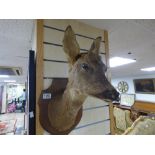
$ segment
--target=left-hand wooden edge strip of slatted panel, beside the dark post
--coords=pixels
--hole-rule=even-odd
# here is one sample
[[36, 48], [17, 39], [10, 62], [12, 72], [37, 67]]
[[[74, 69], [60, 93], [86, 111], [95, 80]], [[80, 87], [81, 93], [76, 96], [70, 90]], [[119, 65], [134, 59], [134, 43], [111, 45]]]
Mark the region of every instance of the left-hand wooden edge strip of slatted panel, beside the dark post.
[[37, 20], [37, 53], [36, 53], [36, 134], [43, 134], [43, 128], [39, 122], [38, 100], [43, 90], [43, 20]]

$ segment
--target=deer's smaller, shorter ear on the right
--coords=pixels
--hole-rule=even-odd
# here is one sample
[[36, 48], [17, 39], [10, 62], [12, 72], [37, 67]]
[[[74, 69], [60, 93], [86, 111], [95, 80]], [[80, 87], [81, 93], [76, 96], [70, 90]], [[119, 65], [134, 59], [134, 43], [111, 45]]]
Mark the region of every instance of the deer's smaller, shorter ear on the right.
[[93, 52], [95, 54], [99, 54], [99, 50], [100, 50], [100, 43], [101, 43], [101, 40], [102, 40], [102, 37], [97, 37], [92, 45], [91, 45], [91, 48], [90, 48], [90, 52]]

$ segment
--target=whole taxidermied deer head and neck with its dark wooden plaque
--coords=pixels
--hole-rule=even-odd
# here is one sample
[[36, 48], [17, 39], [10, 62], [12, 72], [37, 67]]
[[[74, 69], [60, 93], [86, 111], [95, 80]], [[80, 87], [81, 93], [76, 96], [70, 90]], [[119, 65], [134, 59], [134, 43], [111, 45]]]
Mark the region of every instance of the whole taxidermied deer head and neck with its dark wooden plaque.
[[[82, 104], [88, 95], [100, 99], [118, 100], [119, 93], [105, 76], [106, 66], [99, 56], [101, 37], [94, 40], [88, 53], [80, 53], [75, 34], [68, 26], [63, 47], [70, 65], [68, 83], [49, 87], [54, 97], [44, 103], [40, 101], [40, 123], [52, 134], [68, 134], [82, 117]], [[53, 80], [54, 83], [54, 80]], [[53, 84], [54, 85], [54, 84]]]

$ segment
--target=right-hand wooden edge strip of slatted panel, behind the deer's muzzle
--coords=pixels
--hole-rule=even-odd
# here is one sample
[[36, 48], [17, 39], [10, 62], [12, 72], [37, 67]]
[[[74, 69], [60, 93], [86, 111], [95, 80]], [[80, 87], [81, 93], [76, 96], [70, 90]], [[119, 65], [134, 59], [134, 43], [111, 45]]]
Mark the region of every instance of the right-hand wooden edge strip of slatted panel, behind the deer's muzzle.
[[[106, 57], [106, 65], [108, 67], [107, 71], [107, 78], [109, 81], [111, 81], [111, 73], [109, 71], [110, 64], [109, 64], [109, 39], [108, 39], [108, 32], [104, 31], [104, 41], [105, 41], [105, 57]], [[110, 114], [110, 132], [111, 134], [115, 134], [114, 132], [114, 116], [113, 116], [113, 104], [112, 102], [109, 102], [109, 114]]]

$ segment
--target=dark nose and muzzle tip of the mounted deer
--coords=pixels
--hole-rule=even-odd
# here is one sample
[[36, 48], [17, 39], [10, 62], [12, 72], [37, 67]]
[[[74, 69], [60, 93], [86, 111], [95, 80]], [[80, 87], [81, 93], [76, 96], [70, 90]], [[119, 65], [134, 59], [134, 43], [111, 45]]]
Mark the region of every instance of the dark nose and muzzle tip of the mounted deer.
[[112, 101], [119, 101], [119, 99], [120, 99], [119, 95], [120, 94], [115, 89], [107, 90], [107, 91], [104, 92], [104, 97], [106, 99], [110, 99]]

